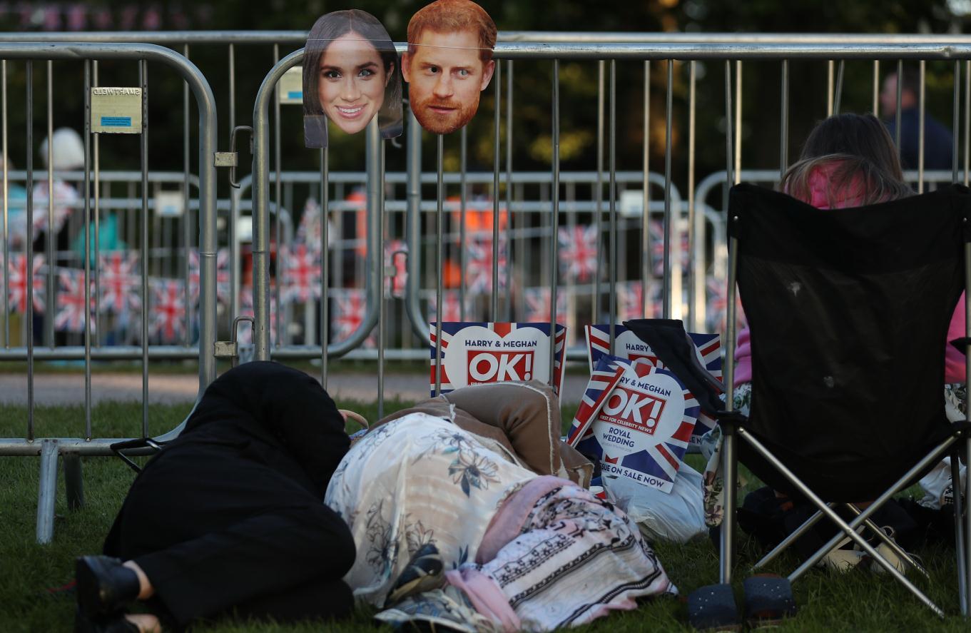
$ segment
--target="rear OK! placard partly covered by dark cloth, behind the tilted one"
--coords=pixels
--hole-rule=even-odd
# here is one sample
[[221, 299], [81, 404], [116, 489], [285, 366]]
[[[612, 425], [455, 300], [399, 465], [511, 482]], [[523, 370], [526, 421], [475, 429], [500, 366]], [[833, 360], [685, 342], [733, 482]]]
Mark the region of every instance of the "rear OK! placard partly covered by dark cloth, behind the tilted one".
[[[600, 358], [610, 354], [610, 325], [586, 325], [584, 330], [586, 358], [592, 374]], [[712, 376], [721, 380], [721, 335], [688, 332], [687, 336], [694, 343], [694, 352], [701, 364]], [[664, 369], [664, 363], [654, 355], [651, 346], [620, 324], [614, 326], [614, 350], [620, 358], [630, 361], [642, 360], [652, 367]], [[691, 435], [691, 444], [699, 445], [701, 436], [715, 428], [715, 418], [709, 416], [709, 413], [715, 412], [698, 413], [698, 421]]]

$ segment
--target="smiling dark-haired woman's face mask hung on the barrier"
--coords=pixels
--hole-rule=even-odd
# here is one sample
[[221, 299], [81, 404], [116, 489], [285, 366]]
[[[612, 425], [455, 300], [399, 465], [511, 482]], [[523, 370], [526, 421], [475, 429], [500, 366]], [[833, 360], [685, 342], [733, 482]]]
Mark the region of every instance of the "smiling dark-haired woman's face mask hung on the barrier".
[[325, 115], [354, 134], [378, 115], [384, 138], [401, 133], [398, 55], [376, 17], [337, 11], [318, 18], [304, 52], [304, 115]]

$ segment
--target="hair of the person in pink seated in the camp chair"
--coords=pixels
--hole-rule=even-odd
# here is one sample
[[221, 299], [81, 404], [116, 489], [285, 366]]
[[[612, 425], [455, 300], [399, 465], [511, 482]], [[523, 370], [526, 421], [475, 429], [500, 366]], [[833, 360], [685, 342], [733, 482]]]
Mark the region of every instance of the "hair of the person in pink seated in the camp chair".
[[833, 166], [826, 191], [831, 208], [841, 199], [869, 205], [914, 194], [903, 181], [887, 128], [873, 115], [836, 115], [817, 123], [799, 160], [783, 176], [782, 190], [800, 200], [812, 199], [810, 175], [823, 166]]

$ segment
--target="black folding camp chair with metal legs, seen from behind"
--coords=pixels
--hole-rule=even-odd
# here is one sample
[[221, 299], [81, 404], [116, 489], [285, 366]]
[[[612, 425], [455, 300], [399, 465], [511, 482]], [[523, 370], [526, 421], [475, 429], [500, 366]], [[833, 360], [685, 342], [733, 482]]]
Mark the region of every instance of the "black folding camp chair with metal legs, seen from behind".
[[[732, 358], [737, 282], [752, 335], [753, 383], [748, 417], [732, 411], [731, 397], [720, 412], [721, 583], [731, 581], [741, 460], [764, 483], [819, 509], [756, 567], [826, 516], [842, 531], [790, 581], [849, 537], [943, 616], [856, 528], [868, 525], [905, 556], [870, 517], [943, 456], [952, 455], [954, 482], [958, 457], [971, 463], [971, 415], [948, 421], [942, 395], [948, 325], [971, 281], [969, 212], [971, 193], [959, 185], [832, 211], [751, 184], [732, 188], [726, 351]], [[955, 345], [966, 351], [968, 342]], [[730, 394], [732, 363], [725, 379]], [[964, 516], [960, 497], [954, 494], [954, 529], [966, 616], [971, 513]], [[873, 503], [862, 512], [853, 505], [865, 501]], [[849, 522], [836, 512], [843, 504], [855, 515]]]

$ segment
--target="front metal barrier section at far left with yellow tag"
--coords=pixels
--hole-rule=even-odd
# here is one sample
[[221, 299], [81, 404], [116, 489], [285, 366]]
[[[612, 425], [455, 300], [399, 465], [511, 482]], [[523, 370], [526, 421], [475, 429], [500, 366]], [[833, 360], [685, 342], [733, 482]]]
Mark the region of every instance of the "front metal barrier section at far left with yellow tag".
[[[72, 43], [72, 44], [40, 44], [40, 43], [0, 43], [0, 74], [2, 74], [2, 85], [3, 85], [3, 141], [4, 150], [6, 150], [6, 140], [7, 140], [7, 129], [6, 129], [6, 113], [7, 113], [7, 90], [6, 90], [6, 73], [7, 64], [10, 60], [25, 60], [26, 63], [26, 76], [27, 76], [27, 88], [26, 88], [26, 105], [27, 105], [27, 123], [26, 129], [26, 146], [28, 148], [26, 169], [24, 173], [25, 183], [26, 183], [26, 200], [25, 200], [25, 214], [27, 218], [34, 217], [33, 207], [34, 207], [34, 193], [33, 193], [33, 138], [32, 138], [32, 128], [33, 128], [33, 91], [32, 91], [32, 71], [33, 63], [36, 60], [48, 60], [48, 78], [49, 78], [49, 95], [50, 83], [51, 83], [51, 72], [50, 72], [50, 61], [52, 60], [76, 60], [84, 62], [84, 95], [85, 95], [85, 115], [90, 109], [89, 94], [90, 88], [96, 86], [97, 83], [92, 79], [92, 63], [96, 63], [99, 60], [131, 60], [138, 61], [139, 63], [139, 78], [142, 87], [141, 99], [142, 99], [142, 127], [141, 127], [141, 217], [142, 222], [141, 228], [141, 244], [149, 244], [149, 224], [147, 218], [149, 217], [149, 199], [148, 199], [148, 138], [146, 131], [148, 129], [148, 121], [144, 117], [146, 112], [146, 98], [147, 92], [145, 88], [148, 85], [148, 65], [150, 62], [162, 64], [173, 69], [177, 72], [185, 81], [188, 89], [191, 90], [196, 106], [199, 111], [199, 165], [200, 174], [198, 177], [198, 188], [199, 188], [199, 270], [200, 270], [200, 309], [198, 314], [199, 319], [199, 347], [198, 350], [193, 350], [191, 357], [198, 358], [199, 365], [199, 392], [201, 393], [205, 387], [211, 383], [216, 378], [216, 357], [213, 354], [216, 343], [216, 170], [214, 164], [214, 156], [216, 152], [216, 130], [217, 130], [217, 117], [215, 100], [213, 98], [213, 92], [210, 89], [209, 83], [202, 76], [199, 70], [182, 55], [168, 50], [162, 47], [154, 45], [140, 45], [140, 44], [84, 44], [84, 43]], [[50, 103], [50, 101], [49, 101]], [[49, 109], [50, 113], [50, 109]], [[148, 345], [148, 323], [145, 317], [145, 311], [143, 311], [143, 317], [141, 320], [141, 341], [138, 346], [134, 348], [113, 348], [111, 350], [104, 350], [107, 353], [100, 353], [96, 350], [92, 350], [92, 328], [91, 328], [91, 302], [90, 302], [90, 284], [87, 283], [88, 280], [92, 279], [91, 275], [91, 240], [90, 240], [90, 226], [91, 226], [91, 137], [97, 136], [90, 132], [88, 126], [89, 120], [85, 117], [84, 121], [84, 194], [81, 196], [82, 204], [84, 205], [84, 347], [81, 350], [73, 350], [71, 353], [64, 353], [63, 350], [35, 350], [33, 341], [33, 292], [34, 284], [32, 282], [25, 283], [25, 320], [26, 320], [26, 330], [27, 336], [25, 339], [25, 345], [22, 349], [13, 350], [10, 349], [10, 339], [6, 339], [6, 358], [24, 358], [27, 362], [27, 420], [26, 429], [24, 436], [22, 438], [8, 438], [0, 439], [0, 455], [37, 455], [41, 456], [41, 471], [40, 471], [40, 483], [39, 483], [39, 503], [37, 512], [37, 540], [41, 543], [50, 542], [53, 533], [53, 513], [54, 513], [54, 497], [56, 493], [56, 475], [57, 475], [57, 457], [58, 455], [64, 458], [65, 462], [65, 477], [67, 480], [67, 490], [68, 490], [68, 505], [71, 508], [76, 508], [83, 504], [84, 493], [83, 485], [81, 479], [81, 461], [80, 456], [82, 455], [109, 455], [112, 454], [110, 450], [110, 445], [123, 440], [124, 438], [109, 439], [97, 437], [91, 428], [91, 360], [95, 356], [105, 357], [123, 357], [132, 358], [137, 357], [141, 359], [142, 363], [142, 384], [143, 384], [143, 419], [142, 419], [142, 429], [141, 433], [143, 437], [148, 437], [149, 433], [149, 409], [148, 409], [148, 392], [149, 392], [149, 360], [150, 360], [150, 349]], [[49, 114], [49, 138], [50, 138], [50, 114]], [[51, 144], [49, 144], [50, 146]], [[95, 145], [96, 147], [96, 145]], [[187, 151], [187, 149], [186, 149]], [[49, 160], [50, 164], [50, 160]], [[6, 169], [3, 170], [2, 186], [3, 186], [3, 197], [4, 197], [4, 226], [8, 226], [7, 219], [9, 218], [9, 177], [10, 174]], [[48, 174], [49, 183], [53, 180], [53, 174], [49, 171]], [[48, 189], [52, 190], [52, 187]], [[98, 189], [95, 187], [93, 189], [94, 195], [97, 196]], [[187, 195], [187, 187], [186, 187]], [[50, 196], [53, 197], [53, 196]], [[51, 209], [53, 205], [49, 205]], [[51, 212], [52, 213], [52, 212]], [[48, 227], [53, 226], [53, 222], [50, 221], [51, 217], [49, 215]], [[9, 254], [7, 249], [7, 240], [5, 236], [5, 248], [4, 254]], [[48, 240], [50, 244], [50, 240]], [[27, 267], [30, 268], [29, 262], [31, 261], [33, 243], [33, 221], [26, 222], [26, 240], [25, 240], [25, 256], [28, 262]], [[49, 250], [50, 254], [50, 250]], [[97, 254], [95, 252], [95, 254]], [[6, 258], [5, 258], [6, 259]], [[143, 267], [143, 274], [141, 280], [141, 295], [143, 301], [148, 301], [148, 268]], [[28, 272], [28, 277], [32, 277], [30, 272]], [[7, 276], [5, 275], [5, 280]], [[8, 280], [9, 281], [9, 280]], [[6, 283], [6, 282], [5, 282]], [[50, 321], [50, 316], [48, 318]], [[154, 355], [172, 355], [176, 357], [184, 357], [184, 348], [179, 347], [175, 349], [164, 349], [157, 350]], [[35, 433], [34, 425], [34, 362], [38, 357], [51, 357], [51, 358], [65, 358], [65, 357], [83, 357], [84, 358], [84, 437], [83, 438], [42, 438], [37, 437]], [[174, 429], [170, 434], [175, 434], [178, 429]]]

